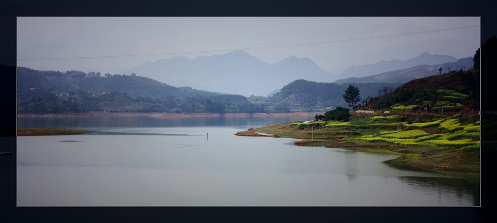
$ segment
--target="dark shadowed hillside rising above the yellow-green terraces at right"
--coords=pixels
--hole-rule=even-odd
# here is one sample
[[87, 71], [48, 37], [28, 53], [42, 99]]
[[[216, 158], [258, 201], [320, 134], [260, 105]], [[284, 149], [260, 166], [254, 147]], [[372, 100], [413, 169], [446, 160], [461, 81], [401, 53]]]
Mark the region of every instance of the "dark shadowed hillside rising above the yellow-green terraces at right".
[[480, 71], [452, 72], [411, 80], [391, 93], [370, 99], [368, 108], [408, 113], [478, 113]]

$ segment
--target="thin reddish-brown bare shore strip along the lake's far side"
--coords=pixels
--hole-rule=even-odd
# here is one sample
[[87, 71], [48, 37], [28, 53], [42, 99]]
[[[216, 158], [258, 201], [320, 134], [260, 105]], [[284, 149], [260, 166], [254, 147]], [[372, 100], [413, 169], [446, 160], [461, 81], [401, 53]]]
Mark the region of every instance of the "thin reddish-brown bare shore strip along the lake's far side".
[[295, 112], [295, 113], [138, 113], [138, 112], [88, 112], [88, 113], [68, 113], [68, 114], [39, 114], [39, 113], [20, 113], [17, 117], [101, 117], [101, 116], [115, 116], [115, 117], [154, 117], [154, 118], [193, 118], [193, 117], [310, 117], [314, 116], [311, 113]]

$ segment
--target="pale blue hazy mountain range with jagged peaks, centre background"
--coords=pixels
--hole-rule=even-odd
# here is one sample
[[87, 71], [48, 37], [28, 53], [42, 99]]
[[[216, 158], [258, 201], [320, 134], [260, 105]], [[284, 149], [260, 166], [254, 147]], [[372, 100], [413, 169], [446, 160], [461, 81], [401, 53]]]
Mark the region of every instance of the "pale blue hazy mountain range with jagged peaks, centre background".
[[147, 61], [123, 71], [123, 74], [131, 73], [173, 86], [190, 86], [244, 96], [267, 95], [303, 77], [323, 82], [336, 79], [309, 58], [290, 56], [276, 64], [268, 64], [244, 51], [202, 56], [193, 60], [176, 56], [156, 62]]

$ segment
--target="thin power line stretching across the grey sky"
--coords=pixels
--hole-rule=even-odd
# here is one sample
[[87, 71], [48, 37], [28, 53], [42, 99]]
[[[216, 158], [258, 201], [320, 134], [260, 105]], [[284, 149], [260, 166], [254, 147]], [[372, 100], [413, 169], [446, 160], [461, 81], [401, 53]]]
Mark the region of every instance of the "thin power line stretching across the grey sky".
[[379, 39], [379, 38], [387, 38], [387, 37], [397, 37], [397, 36], [421, 34], [421, 33], [440, 32], [440, 31], [453, 30], [453, 29], [463, 29], [463, 28], [476, 27], [476, 26], [480, 26], [480, 25], [469, 25], [469, 26], [461, 26], [461, 27], [454, 27], [454, 28], [447, 28], [447, 29], [436, 29], [436, 30], [429, 30], [429, 31], [402, 33], [402, 34], [385, 35], [385, 36], [364, 37], [364, 38], [356, 38], [356, 39], [332, 40], [332, 41], [324, 41], [324, 42], [300, 43], [300, 44], [265, 46], [265, 47], [249, 47], [249, 48], [236, 48], [236, 49], [224, 49], [224, 50], [190, 51], [190, 52], [176, 52], [176, 53], [162, 53], [162, 54], [134, 54], [134, 55], [116, 55], [116, 56], [93, 56], [93, 57], [30, 58], [30, 59], [17, 59], [17, 60], [18, 61], [80, 60], [80, 59], [104, 59], [104, 58], [164, 56], [164, 55], [178, 55], [178, 54], [182, 55], [182, 54], [198, 54], [198, 53], [218, 53], [218, 52], [236, 51], [236, 50], [260, 50], [260, 49], [307, 46], [307, 45], [318, 45], [318, 44], [328, 44], [328, 43], [341, 43], [341, 42], [351, 42], [351, 41], [360, 41], [360, 40], [369, 40], [369, 39]]

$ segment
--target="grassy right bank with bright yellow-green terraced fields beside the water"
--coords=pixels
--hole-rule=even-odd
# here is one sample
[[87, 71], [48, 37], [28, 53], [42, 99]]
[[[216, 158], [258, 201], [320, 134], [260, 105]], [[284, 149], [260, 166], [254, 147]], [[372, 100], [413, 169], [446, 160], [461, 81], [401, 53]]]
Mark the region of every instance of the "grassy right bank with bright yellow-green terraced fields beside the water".
[[288, 122], [249, 132], [303, 139], [298, 146], [326, 146], [398, 154], [396, 161], [443, 171], [480, 171], [478, 115], [354, 115], [348, 122]]

